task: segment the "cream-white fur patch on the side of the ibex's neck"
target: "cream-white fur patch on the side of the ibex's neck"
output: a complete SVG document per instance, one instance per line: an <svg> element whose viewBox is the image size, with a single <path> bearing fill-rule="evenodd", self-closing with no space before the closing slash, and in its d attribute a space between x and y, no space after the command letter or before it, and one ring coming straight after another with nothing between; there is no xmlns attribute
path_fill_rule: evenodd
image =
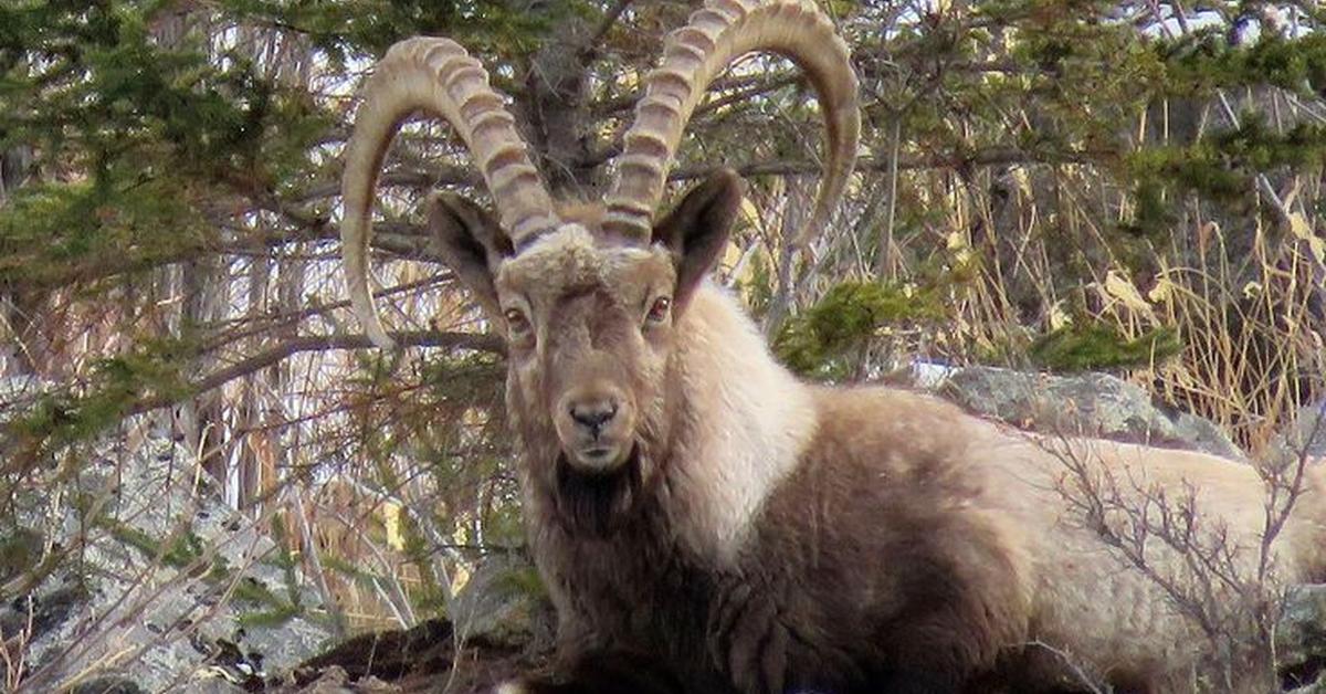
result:
<svg viewBox="0 0 1326 694"><path fill-rule="evenodd" d="M815 430L812 393L728 292L705 283L678 325L667 512L701 559L731 561Z"/></svg>

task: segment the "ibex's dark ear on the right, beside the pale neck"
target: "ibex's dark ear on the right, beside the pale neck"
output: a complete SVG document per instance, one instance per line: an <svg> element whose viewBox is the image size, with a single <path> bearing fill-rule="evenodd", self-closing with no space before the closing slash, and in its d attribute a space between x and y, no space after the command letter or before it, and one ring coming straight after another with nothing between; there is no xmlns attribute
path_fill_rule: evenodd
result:
<svg viewBox="0 0 1326 694"><path fill-rule="evenodd" d="M719 169L709 178L691 188L682 202L654 227L654 243L672 251L676 263L678 309L700 280L713 268L719 253L728 243L732 220L741 208L745 183L731 169Z"/></svg>

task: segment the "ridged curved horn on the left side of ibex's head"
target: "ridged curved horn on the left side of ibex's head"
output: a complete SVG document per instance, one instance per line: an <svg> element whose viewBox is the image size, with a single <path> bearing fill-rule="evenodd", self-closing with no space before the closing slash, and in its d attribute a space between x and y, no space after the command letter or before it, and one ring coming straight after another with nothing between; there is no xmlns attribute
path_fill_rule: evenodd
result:
<svg viewBox="0 0 1326 694"><path fill-rule="evenodd" d="M408 38L391 46L363 85L341 179L341 248L350 304L369 337L383 349L390 349L392 341L369 293L373 194L391 138L415 110L446 118L460 133L513 244L557 224L552 199L516 133L514 118L488 85L483 65L450 38Z"/></svg>

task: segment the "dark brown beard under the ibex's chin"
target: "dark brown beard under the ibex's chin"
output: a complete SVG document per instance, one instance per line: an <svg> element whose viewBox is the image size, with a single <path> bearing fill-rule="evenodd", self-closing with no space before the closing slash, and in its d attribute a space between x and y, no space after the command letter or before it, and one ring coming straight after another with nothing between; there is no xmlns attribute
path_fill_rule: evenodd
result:
<svg viewBox="0 0 1326 694"><path fill-rule="evenodd" d="M644 487L643 471L639 445L621 467L602 475L577 471L565 454L558 454L558 518L575 535L611 535L636 512Z"/></svg>

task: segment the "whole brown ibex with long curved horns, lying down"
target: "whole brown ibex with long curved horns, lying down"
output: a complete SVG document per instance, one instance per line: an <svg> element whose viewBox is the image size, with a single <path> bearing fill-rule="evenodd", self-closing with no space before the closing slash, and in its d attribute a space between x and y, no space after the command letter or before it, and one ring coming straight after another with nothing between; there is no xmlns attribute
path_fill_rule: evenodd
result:
<svg viewBox="0 0 1326 694"><path fill-rule="evenodd" d="M1071 673L1191 689L1203 641L1069 508L1065 462L1044 441L923 394L821 387L780 366L705 279L743 194L732 171L655 216L696 104L754 50L794 61L821 105L813 234L853 171L859 115L847 46L809 3L709 0L671 33L601 204L552 200L503 97L450 40L396 44L363 89L342 240L378 345L391 340L367 284L371 200L399 122L415 110L450 122L492 195L492 212L434 195L428 224L504 326L524 514L562 662L646 653L688 691L716 693L1037 691L1071 689ZM1253 467L1065 443L1085 454L1083 475L1139 482L1124 498L1193 490L1197 525L1224 528L1235 564L1257 561ZM1305 484L1274 548L1277 585L1326 567L1326 487ZM1184 576L1179 553L1146 552Z"/></svg>

